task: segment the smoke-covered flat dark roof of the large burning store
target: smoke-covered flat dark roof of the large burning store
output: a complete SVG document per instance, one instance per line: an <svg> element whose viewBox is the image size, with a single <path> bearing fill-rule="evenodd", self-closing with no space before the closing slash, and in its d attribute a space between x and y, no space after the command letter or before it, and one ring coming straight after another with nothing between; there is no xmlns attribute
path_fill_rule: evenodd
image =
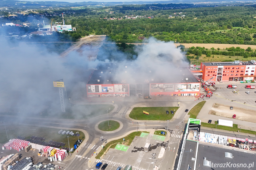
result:
<svg viewBox="0 0 256 170"><path fill-rule="evenodd" d="M175 68L172 64L164 72L144 68L131 63L99 64L87 84L199 83L187 68Z"/></svg>

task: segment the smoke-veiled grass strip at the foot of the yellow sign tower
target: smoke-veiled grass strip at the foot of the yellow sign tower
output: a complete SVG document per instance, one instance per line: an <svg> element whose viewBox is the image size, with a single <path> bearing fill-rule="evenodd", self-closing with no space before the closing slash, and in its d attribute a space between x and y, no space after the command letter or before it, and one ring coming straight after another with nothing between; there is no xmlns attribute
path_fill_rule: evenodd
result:
<svg viewBox="0 0 256 170"><path fill-rule="evenodd" d="M61 112L61 108L57 108L57 111L53 110L45 110L40 113L30 113L29 116L32 117L44 117L44 118L52 118L53 114L55 118L59 119L88 119L94 116L99 116L106 114L106 110L113 110L115 106L111 104L91 104L91 105L76 105L71 106L69 104L65 105L66 112ZM8 114L8 115L23 115L23 112L18 113L0 113L0 114ZM24 116L28 116L27 112L24 113Z"/></svg>

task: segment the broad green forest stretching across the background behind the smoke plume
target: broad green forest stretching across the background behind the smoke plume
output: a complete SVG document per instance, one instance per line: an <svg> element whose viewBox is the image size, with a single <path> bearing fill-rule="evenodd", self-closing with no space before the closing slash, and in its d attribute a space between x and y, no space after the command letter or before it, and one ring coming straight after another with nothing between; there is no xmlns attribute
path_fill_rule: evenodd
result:
<svg viewBox="0 0 256 170"><path fill-rule="evenodd" d="M82 9L67 13L65 22L74 25L81 36L108 35L109 41L117 43L139 43L144 38L155 37L176 43L256 45L253 5L150 9L152 5ZM49 17L52 18L61 21L60 16Z"/></svg>

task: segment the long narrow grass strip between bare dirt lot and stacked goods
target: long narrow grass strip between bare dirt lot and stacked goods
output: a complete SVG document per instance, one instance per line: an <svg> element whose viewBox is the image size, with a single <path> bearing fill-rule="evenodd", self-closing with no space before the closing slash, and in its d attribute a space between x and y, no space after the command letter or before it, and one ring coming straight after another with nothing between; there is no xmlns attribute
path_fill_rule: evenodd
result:
<svg viewBox="0 0 256 170"><path fill-rule="evenodd" d="M216 124L217 124L217 121L215 121L214 124L201 122L201 126L209 127L209 128L213 128L213 129L216 129ZM240 131L240 128L238 128L237 124L233 124L233 127L217 125L217 129L228 130L228 131L231 131L231 132L238 132L238 130ZM252 130L241 129L241 132L256 135L256 132L252 131Z"/></svg>

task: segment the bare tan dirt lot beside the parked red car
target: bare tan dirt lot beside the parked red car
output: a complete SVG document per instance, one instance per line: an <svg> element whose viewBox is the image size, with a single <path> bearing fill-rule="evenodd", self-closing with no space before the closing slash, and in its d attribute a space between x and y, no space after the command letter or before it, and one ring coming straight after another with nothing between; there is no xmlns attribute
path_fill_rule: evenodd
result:
<svg viewBox="0 0 256 170"><path fill-rule="evenodd" d="M233 114L236 114L236 119L256 123L254 110L239 108L235 106L233 106L233 110L230 110L230 106L214 103L212 110L209 111L209 114L228 118L232 118Z"/></svg>

